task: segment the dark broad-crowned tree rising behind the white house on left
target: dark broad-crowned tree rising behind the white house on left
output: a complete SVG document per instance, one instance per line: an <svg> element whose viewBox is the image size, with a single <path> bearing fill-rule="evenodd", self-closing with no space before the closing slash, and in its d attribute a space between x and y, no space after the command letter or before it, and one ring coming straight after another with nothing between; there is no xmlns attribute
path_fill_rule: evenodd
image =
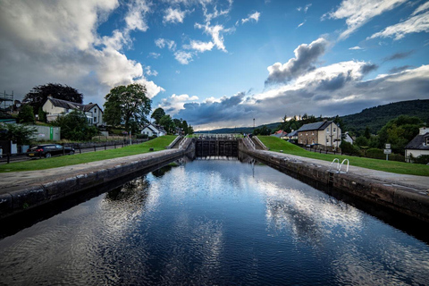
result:
<svg viewBox="0 0 429 286"><path fill-rule="evenodd" d="M33 106L33 110L38 110L49 96L78 104L83 103L83 95L77 89L59 83L48 83L34 87L24 97L23 102L28 102L29 105Z"/></svg>

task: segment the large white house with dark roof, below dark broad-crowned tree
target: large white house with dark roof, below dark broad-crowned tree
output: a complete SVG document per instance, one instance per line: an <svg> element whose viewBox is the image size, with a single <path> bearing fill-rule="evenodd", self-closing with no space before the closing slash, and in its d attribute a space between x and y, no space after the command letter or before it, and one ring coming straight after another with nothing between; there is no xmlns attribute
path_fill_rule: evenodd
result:
<svg viewBox="0 0 429 286"><path fill-rule="evenodd" d="M63 99L47 97L46 102L42 105L42 110L46 112L47 122L52 122L63 114L69 114L73 110L77 110L85 114L89 124L103 125L103 110L93 103L82 105Z"/></svg>

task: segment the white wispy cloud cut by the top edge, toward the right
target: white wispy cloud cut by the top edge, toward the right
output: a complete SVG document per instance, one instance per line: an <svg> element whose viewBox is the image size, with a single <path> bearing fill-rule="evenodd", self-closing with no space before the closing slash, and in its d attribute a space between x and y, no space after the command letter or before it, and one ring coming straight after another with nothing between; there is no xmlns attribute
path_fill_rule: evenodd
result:
<svg viewBox="0 0 429 286"><path fill-rule="evenodd" d="M391 11L405 2L407 0L343 0L335 12L324 14L322 19L326 16L331 19L345 18L348 29L340 35L341 39L345 39L375 16Z"/></svg>

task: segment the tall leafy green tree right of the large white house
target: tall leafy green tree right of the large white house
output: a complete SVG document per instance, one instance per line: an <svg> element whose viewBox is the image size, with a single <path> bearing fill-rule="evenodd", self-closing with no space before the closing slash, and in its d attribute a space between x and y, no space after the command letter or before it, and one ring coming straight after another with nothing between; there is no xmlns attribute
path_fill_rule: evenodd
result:
<svg viewBox="0 0 429 286"><path fill-rule="evenodd" d="M138 125L147 122L152 101L146 94L146 87L138 83L112 88L105 96L105 122L114 126L124 124L127 131L131 122Z"/></svg>

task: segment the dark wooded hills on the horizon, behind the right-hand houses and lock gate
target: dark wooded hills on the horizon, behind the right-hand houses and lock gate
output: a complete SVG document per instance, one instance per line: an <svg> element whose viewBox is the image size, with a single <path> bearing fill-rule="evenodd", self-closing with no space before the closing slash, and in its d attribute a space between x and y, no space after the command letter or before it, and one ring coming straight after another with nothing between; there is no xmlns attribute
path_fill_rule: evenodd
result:
<svg viewBox="0 0 429 286"><path fill-rule="evenodd" d="M416 99L400 101L389 105L378 105L362 110L358 114L349 114L341 116L345 125L343 131L353 131L357 134L363 134L366 126L371 133L376 134L391 119L400 115L417 116L426 124L429 124L429 99ZM329 118L332 120L333 118ZM265 124L267 128L275 130L281 122ZM257 126L261 128L263 125ZM211 130L211 133L250 133L253 127L223 128ZM206 132L204 132L206 133Z"/></svg>

